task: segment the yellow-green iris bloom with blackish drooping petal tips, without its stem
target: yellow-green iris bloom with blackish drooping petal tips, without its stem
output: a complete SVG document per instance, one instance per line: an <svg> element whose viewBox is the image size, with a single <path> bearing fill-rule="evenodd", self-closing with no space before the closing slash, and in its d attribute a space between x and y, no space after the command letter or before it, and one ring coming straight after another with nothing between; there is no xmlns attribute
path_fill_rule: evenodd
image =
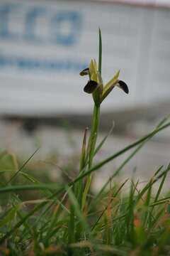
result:
<svg viewBox="0 0 170 256"><path fill-rule="evenodd" d="M89 68L85 68L80 73L81 76L89 75L89 81L84 87L84 92L92 93L96 105L108 96L115 86L120 87L125 93L129 93L128 85L123 80L119 80L120 70L113 76L113 78L103 86L101 74L98 72L98 65L96 60L91 60Z"/></svg>

